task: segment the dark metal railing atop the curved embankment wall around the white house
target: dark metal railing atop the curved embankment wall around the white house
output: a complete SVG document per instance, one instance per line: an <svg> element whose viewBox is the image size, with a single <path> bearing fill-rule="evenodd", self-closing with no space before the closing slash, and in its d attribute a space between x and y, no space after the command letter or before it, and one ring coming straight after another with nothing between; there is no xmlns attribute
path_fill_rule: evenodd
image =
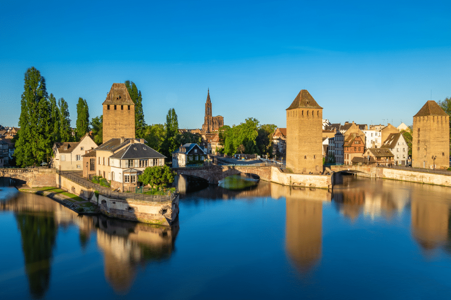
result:
<svg viewBox="0 0 451 300"><path fill-rule="evenodd" d="M134 199L134 200L142 200L142 201L155 201L155 202L168 202L172 201L172 199L177 195L177 189L175 192L171 192L170 195L148 195L148 194L140 194L133 192L121 192L114 191L108 187L102 186L100 184L91 182L83 177L80 177L75 172L66 172L60 171L61 176L68 178L71 181L76 182L87 188L92 188L97 190L99 194L107 196L109 198L119 198L119 199Z"/></svg>

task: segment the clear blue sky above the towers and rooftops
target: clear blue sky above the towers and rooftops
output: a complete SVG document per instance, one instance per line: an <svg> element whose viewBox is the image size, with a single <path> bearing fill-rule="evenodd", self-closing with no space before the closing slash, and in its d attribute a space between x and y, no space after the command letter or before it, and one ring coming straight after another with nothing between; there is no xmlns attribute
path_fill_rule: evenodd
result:
<svg viewBox="0 0 451 300"><path fill-rule="evenodd" d="M225 124L286 126L307 89L332 122L412 123L451 96L451 1L0 1L0 124L17 125L24 73L102 114L129 79L148 124L174 107L200 128L207 88Z"/></svg>

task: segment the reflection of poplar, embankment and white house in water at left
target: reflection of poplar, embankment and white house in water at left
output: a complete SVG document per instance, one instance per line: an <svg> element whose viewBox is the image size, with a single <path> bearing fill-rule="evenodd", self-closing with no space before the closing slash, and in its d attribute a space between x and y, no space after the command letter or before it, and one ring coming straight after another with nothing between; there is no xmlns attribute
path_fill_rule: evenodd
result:
<svg viewBox="0 0 451 300"><path fill-rule="evenodd" d="M28 193L0 202L0 210L15 212L30 293L36 298L44 297L49 288L59 226L77 225L82 249L89 236L96 234L97 245L104 253L105 277L117 292L130 288L137 266L169 258L179 230L178 223L169 227L79 215L47 197Z"/></svg>

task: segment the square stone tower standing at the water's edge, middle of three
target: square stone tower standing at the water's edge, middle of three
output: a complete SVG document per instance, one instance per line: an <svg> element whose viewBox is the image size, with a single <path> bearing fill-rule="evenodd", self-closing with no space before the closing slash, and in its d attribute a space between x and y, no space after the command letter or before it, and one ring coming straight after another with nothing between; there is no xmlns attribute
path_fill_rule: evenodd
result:
<svg viewBox="0 0 451 300"><path fill-rule="evenodd" d="M302 89L287 108L287 168L295 173L323 171L323 107Z"/></svg>

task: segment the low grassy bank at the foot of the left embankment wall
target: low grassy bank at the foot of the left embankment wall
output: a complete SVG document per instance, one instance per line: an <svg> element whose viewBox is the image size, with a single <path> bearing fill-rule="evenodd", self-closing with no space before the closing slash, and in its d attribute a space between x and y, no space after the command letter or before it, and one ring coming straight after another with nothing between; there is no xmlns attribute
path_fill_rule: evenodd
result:
<svg viewBox="0 0 451 300"><path fill-rule="evenodd" d="M80 214L100 213L100 208L95 203L87 201L61 188L53 186L29 187L27 185L16 186L16 188L22 192L49 197Z"/></svg>

